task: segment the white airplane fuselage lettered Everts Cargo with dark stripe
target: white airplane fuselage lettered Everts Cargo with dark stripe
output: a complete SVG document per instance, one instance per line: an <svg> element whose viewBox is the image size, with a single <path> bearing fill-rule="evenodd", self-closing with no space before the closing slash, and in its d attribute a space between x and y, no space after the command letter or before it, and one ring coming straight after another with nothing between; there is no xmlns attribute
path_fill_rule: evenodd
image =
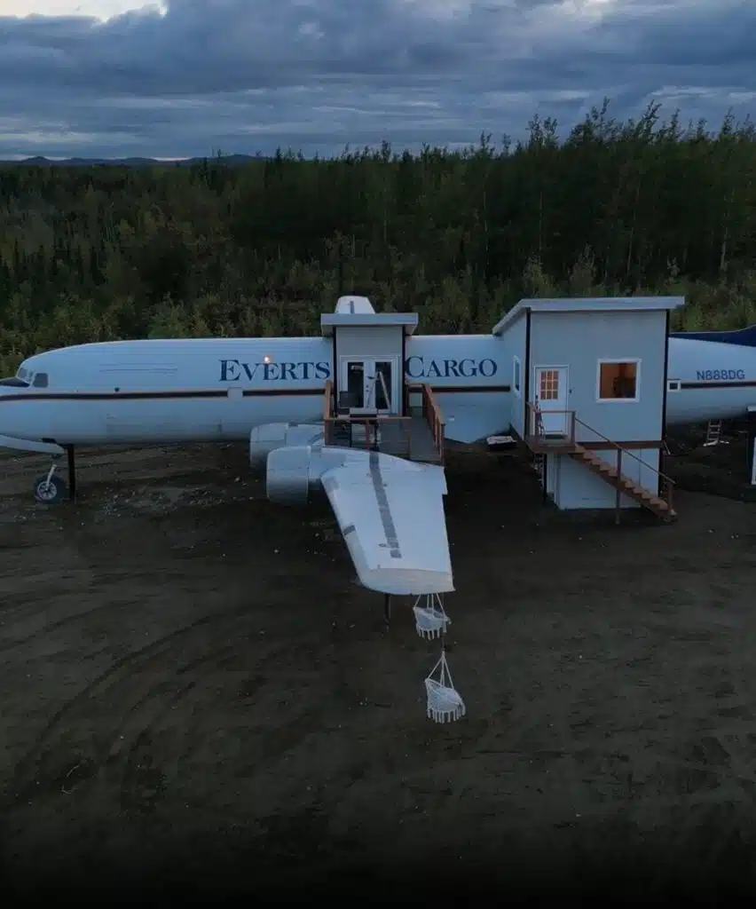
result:
<svg viewBox="0 0 756 909"><path fill-rule="evenodd" d="M667 425L736 417L756 403L756 348L681 337L669 345ZM403 371L433 387L447 438L471 442L507 429L512 365L500 338L415 335ZM322 421L323 388L334 375L333 345L322 337L61 348L29 357L0 384L0 445L248 439L256 426Z"/></svg>

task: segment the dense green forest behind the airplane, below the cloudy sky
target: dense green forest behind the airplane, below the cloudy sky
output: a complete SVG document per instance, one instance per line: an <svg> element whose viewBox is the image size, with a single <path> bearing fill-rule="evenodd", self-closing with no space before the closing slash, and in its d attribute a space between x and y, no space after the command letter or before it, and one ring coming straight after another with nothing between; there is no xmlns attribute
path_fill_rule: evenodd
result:
<svg viewBox="0 0 756 909"><path fill-rule="evenodd" d="M0 168L0 368L91 340L318 331L340 291L486 331L522 296L683 294L676 328L756 322L756 130L731 116L420 155Z"/></svg>

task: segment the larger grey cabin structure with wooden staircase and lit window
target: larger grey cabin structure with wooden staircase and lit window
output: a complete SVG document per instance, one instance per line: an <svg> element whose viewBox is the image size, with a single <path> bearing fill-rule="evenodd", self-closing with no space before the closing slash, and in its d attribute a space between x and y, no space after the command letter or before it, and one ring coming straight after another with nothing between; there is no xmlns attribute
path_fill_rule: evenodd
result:
<svg viewBox="0 0 756 909"><path fill-rule="evenodd" d="M521 300L494 326L512 370L512 433L560 509L674 519L661 473L670 313L681 297Z"/></svg>

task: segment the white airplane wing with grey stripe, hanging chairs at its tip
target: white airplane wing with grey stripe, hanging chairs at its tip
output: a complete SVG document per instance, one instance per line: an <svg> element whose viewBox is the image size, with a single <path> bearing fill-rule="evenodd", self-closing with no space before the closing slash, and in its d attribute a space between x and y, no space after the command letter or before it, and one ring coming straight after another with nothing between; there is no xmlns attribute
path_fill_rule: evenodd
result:
<svg viewBox="0 0 756 909"><path fill-rule="evenodd" d="M360 582L383 594L454 589L443 467L371 453L321 477Z"/></svg>

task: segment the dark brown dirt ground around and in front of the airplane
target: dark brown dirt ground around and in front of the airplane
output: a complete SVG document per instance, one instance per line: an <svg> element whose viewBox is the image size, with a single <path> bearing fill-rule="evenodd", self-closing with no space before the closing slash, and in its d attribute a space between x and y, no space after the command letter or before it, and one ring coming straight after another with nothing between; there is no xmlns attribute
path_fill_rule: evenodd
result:
<svg viewBox="0 0 756 909"><path fill-rule="evenodd" d="M512 455L453 454L468 714L437 725L411 603L387 630L327 505L268 504L244 446L83 452L79 503L52 508L46 466L0 461L0 814L26 893L752 883L755 505L681 491L677 524L615 526L556 514Z"/></svg>

